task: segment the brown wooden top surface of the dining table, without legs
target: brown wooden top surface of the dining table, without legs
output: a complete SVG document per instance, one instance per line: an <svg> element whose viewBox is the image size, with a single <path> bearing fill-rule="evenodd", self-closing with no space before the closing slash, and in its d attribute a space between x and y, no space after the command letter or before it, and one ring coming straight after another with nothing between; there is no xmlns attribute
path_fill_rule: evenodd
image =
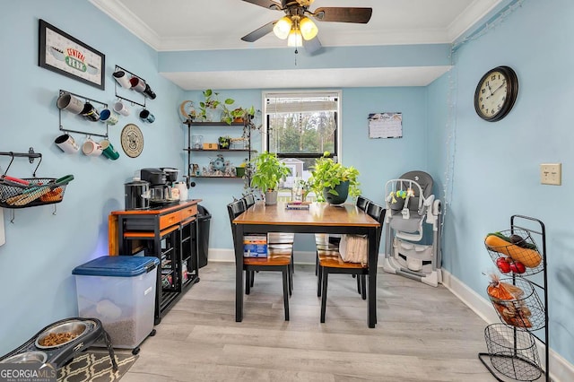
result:
<svg viewBox="0 0 574 382"><path fill-rule="evenodd" d="M284 202L265 205L258 202L233 220L236 224L318 225L378 227L378 221L354 204L331 205L313 202L309 210L287 210Z"/></svg>

